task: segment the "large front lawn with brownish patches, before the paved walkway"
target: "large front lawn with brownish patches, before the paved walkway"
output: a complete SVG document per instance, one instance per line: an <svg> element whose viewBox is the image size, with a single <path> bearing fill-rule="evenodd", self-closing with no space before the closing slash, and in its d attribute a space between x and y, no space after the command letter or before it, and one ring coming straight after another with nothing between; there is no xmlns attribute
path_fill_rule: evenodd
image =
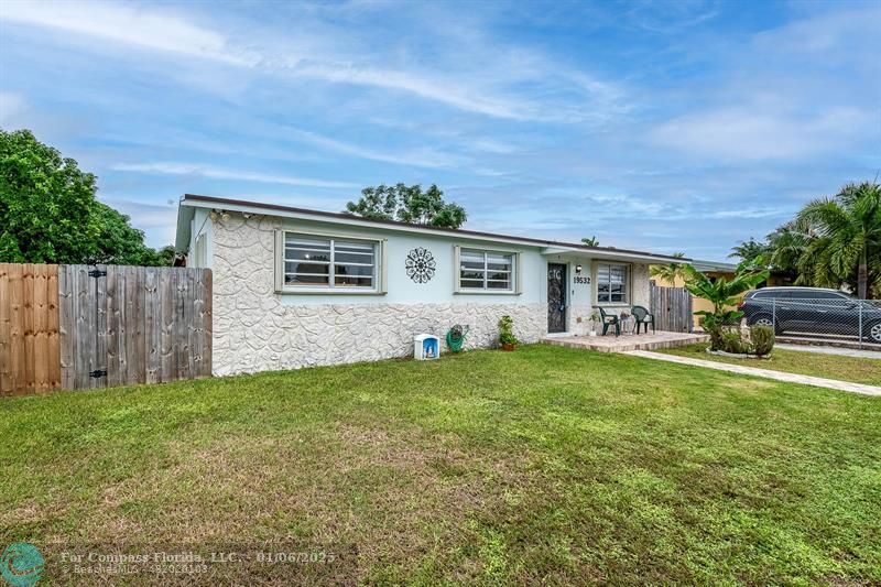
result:
<svg viewBox="0 0 881 587"><path fill-rule="evenodd" d="M0 547L338 555L287 580L881 583L881 400L561 347L0 400Z"/></svg>

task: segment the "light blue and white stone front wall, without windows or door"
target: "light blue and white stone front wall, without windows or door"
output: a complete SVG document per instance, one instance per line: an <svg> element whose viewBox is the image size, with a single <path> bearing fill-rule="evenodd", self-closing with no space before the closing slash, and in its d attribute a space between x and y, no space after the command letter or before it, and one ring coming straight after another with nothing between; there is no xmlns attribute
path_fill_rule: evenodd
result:
<svg viewBox="0 0 881 587"><path fill-rule="evenodd" d="M387 293L383 295L278 293L274 284L274 232L278 229L336 236L388 239ZM197 210L193 240L208 239L214 270L214 372L230 374L307 366L379 360L413 355L413 336L429 333L443 338L454 324L468 325L466 348L496 344L499 317L509 314L524 343L547 333L547 263L566 263L567 330L585 335L594 309L592 261L583 256L542 256L539 248L490 246L467 237L452 239L431 233L345 228L327 222L255 215L211 218ZM520 294L454 292L454 246L503 248L520 254ZM436 272L428 283L406 276L404 262L416 248L428 249ZM193 249L191 249L193 250ZM576 283L576 265L590 283ZM631 265L631 303L649 303L649 268ZM581 318L580 322L578 318Z"/></svg>

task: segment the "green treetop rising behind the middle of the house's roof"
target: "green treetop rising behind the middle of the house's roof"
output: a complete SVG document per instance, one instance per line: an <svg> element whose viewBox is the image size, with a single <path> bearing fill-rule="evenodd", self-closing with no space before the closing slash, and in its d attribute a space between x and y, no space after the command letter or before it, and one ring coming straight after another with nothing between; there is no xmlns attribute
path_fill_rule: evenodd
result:
<svg viewBox="0 0 881 587"><path fill-rule="evenodd" d="M360 199L346 204L345 211L370 219L459 228L467 219L465 208L444 202L443 196L444 193L434 184L425 192L418 184L381 184L363 188Z"/></svg>

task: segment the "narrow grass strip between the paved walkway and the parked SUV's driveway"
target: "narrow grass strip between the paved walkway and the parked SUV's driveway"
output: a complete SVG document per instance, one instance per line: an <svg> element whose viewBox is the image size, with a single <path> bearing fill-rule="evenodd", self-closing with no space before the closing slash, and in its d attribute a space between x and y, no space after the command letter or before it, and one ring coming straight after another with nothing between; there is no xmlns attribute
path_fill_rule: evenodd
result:
<svg viewBox="0 0 881 587"><path fill-rule="evenodd" d="M666 352L667 355L678 355L679 357L692 357L694 359L704 359L708 361L727 362L730 365L742 365L744 367L758 367L760 369L771 369L774 371L785 371L787 373L825 377L828 379L838 379L840 381L851 381L853 383L881 385L881 360L878 359L823 355L820 352L782 348L772 350L771 358L766 360L738 359L710 355L706 352L707 345L707 343L698 343L686 347L662 349L657 352Z"/></svg>

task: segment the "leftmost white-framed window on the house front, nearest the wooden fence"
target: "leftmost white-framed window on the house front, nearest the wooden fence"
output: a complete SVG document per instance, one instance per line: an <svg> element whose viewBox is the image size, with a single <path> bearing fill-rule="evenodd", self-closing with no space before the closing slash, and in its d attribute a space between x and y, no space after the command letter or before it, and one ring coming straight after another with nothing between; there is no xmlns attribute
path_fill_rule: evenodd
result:
<svg viewBox="0 0 881 587"><path fill-rule="evenodd" d="M282 258L286 291L377 291L379 242L284 232Z"/></svg>

